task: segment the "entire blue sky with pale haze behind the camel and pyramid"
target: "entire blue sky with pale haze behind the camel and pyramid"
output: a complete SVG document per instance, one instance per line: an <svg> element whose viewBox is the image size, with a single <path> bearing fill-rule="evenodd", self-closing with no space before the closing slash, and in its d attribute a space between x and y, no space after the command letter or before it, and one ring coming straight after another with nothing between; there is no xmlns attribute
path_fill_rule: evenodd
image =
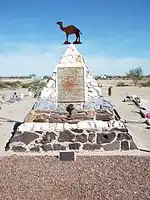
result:
<svg viewBox="0 0 150 200"><path fill-rule="evenodd" d="M0 0L0 75L51 74L67 48L60 20L81 30L92 73L150 74L149 0Z"/></svg>

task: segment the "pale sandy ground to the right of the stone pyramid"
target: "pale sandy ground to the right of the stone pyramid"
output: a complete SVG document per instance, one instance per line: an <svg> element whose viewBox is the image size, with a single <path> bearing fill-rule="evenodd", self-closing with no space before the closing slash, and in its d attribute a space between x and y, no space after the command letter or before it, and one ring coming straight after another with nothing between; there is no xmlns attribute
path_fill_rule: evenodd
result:
<svg viewBox="0 0 150 200"><path fill-rule="evenodd" d="M105 96L107 96L107 88L107 86L103 88ZM144 121L139 113L137 113L139 109L133 103L122 102L122 99L126 95L133 94L147 100L150 105L150 87L113 87L112 96L107 98L116 106L116 109L123 120ZM130 133L132 134L132 137L134 138L138 147L140 149L150 151L150 129L146 129L147 125L140 123L128 123L126 125L130 129Z"/></svg>

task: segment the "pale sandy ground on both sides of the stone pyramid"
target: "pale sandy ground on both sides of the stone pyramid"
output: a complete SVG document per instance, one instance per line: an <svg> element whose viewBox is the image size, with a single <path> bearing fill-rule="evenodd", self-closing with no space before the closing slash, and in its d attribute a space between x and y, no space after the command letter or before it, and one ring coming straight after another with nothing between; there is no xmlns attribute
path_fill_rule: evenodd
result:
<svg viewBox="0 0 150 200"><path fill-rule="evenodd" d="M102 81L103 83L105 82ZM102 84L103 84L102 83ZM121 115L122 119L128 120L142 120L140 115L137 113L138 109L135 105L131 103L123 103L122 99L125 95L136 94L141 98L150 101L150 88L139 88L139 87L115 87L116 81L107 81L102 87L104 95L107 97L107 89L109 85L113 85L112 96L108 99L116 105L116 108ZM23 90L18 90L18 94ZM4 90L1 93L6 96L11 96L13 91ZM24 90L24 93L27 94L27 91ZM24 98L21 102L13 104L3 104L2 110L0 110L0 152L4 147L4 143L9 139L12 126L15 121L23 121L24 117L31 109L35 99L31 97ZM136 144L139 148L144 150L150 150L150 129L146 129L145 124L127 124L128 128L132 132L132 137L134 138ZM5 142L4 142L5 141Z"/></svg>

